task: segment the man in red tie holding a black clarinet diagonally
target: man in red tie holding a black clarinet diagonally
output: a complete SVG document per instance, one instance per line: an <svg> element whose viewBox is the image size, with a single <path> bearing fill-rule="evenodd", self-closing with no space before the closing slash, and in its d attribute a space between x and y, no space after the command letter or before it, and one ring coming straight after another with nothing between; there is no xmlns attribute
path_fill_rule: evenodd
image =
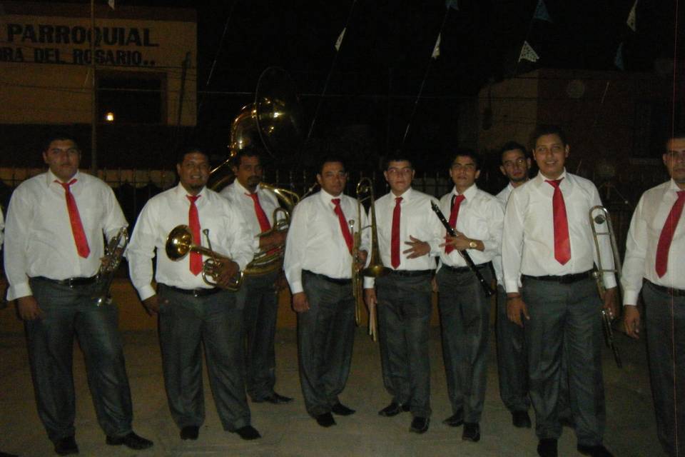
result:
<svg viewBox="0 0 685 457"><path fill-rule="evenodd" d="M462 439L480 440L485 399L490 298L460 251L466 251L488 284L492 259L502 242L504 206L478 189L480 157L461 150L452 156L450 177L455 187L440 199L440 209L457 236L447 236L440 251L437 287L442 327L442 351L452 416L448 426L464 425Z"/></svg>

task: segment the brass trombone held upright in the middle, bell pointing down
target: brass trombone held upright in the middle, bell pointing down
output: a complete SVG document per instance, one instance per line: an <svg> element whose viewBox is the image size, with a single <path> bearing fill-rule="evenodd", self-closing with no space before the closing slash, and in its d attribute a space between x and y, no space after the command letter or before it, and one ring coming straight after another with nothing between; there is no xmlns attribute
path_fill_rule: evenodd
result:
<svg viewBox="0 0 685 457"><path fill-rule="evenodd" d="M352 247L352 292L355 296L355 322L357 326L361 320L361 308L364 302L362 276L369 276L371 278L378 278L384 276L390 271L390 268L383 266L380 260L380 251L378 250L378 230L376 225L376 208L375 196L373 194L373 181L368 178L362 178L357 183L357 221L361 224L362 221L362 207L366 200L370 201L369 214L371 224L367 227L361 227L354 230L354 221L350 221L350 231L352 231L352 239L354 241ZM371 252L368 266L360 268L359 266L359 246L362 242L362 230L371 229ZM376 321L375 305L369 307L369 335L373 341L376 341L378 326Z"/></svg>

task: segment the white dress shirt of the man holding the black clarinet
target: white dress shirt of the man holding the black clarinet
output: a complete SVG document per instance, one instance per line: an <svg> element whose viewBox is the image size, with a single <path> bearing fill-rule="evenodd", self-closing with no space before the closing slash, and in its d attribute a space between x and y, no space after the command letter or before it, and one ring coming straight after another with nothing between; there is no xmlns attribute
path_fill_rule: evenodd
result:
<svg viewBox="0 0 685 457"><path fill-rule="evenodd" d="M452 197L458 195L455 187L450 194L445 194L440 199L440 210L448 221L452 211ZM456 230L464 233L467 238L483 242L483 251L468 249L473 263L480 265L492 261L494 257L499 256L501 248L504 206L494 196L478 189L475 184L466 189L462 195L465 196L465 200L459 207ZM443 263L454 267L467 266L466 261L456 249L449 254L445 253L445 248L440 250L440 266Z"/></svg>

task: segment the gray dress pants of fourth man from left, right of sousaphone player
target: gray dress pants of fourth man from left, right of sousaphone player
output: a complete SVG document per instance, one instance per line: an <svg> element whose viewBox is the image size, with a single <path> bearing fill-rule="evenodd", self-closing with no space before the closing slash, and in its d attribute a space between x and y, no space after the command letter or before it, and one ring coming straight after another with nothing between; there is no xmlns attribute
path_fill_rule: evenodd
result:
<svg viewBox="0 0 685 457"><path fill-rule="evenodd" d="M330 413L350 375L355 339L352 282L335 283L303 271L308 311L298 313L300 385L307 412Z"/></svg>

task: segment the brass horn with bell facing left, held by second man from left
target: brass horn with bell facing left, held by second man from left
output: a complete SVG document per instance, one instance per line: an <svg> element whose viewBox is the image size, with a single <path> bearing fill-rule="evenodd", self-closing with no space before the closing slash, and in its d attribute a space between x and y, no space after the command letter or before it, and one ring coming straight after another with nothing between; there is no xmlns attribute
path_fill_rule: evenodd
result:
<svg viewBox="0 0 685 457"><path fill-rule="evenodd" d="M205 236L207 236L207 241L209 242L208 229L203 230ZM169 235L166 237L166 245L164 246L166 255L173 261L179 261L184 258L189 252L195 252L202 254L203 256L208 256L203 263L202 268L202 278L205 283L210 286L216 286L218 276L220 273L220 267L222 263L231 261L230 258L222 256L218 253L212 251L212 246L205 248L194 243L193 232L188 229L186 225L180 225L173 228ZM229 291L238 291L240 284L243 283L243 271L240 271L236 278L233 279L228 286L224 287Z"/></svg>

